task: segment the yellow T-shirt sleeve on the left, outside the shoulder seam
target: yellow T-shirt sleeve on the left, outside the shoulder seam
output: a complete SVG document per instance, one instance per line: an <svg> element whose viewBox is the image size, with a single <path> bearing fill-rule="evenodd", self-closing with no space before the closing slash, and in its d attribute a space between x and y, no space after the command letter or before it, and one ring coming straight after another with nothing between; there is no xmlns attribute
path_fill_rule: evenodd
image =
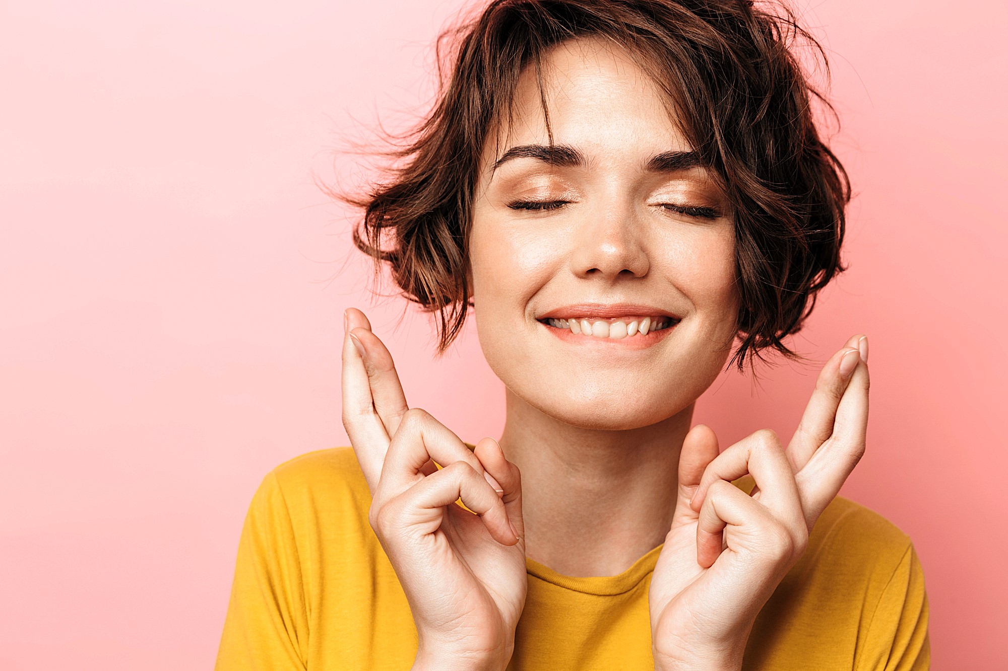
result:
<svg viewBox="0 0 1008 671"><path fill-rule="evenodd" d="M252 499L216 671L303 671L307 614L293 526L275 473Z"/></svg>

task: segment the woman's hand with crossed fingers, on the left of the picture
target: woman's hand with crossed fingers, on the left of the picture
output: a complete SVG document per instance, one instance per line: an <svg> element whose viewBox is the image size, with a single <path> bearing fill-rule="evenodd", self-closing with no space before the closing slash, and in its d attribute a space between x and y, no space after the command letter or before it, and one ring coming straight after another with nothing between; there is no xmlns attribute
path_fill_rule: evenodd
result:
<svg viewBox="0 0 1008 671"><path fill-rule="evenodd" d="M371 490L371 527L412 611L413 668L504 669L527 585L518 466L493 438L470 450L408 409L367 317L349 308L345 319L343 425Z"/></svg>

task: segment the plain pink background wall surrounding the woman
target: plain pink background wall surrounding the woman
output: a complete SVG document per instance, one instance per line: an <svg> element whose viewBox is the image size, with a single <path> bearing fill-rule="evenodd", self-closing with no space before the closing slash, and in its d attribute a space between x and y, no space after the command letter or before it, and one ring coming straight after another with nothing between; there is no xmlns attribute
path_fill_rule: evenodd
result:
<svg viewBox="0 0 1008 671"><path fill-rule="evenodd" d="M369 307L312 173L430 93L458 2L0 5L0 668L199 669L217 650L260 479L349 444L342 310L407 397L477 440L502 387L470 331L432 361ZM851 170L847 259L795 345L872 344L869 449L843 494L913 538L935 668L1005 668L1008 319L1003 2L828 0ZM789 436L815 367L723 376L698 421Z"/></svg>

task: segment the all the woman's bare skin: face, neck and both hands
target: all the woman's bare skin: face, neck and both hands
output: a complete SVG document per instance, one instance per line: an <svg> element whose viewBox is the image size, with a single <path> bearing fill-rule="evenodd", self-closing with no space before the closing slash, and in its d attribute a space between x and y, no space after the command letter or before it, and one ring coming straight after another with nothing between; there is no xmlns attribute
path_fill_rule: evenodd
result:
<svg viewBox="0 0 1008 671"><path fill-rule="evenodd" d="M347 310L344 425L417 627L414 668L505 668L526 556L615 575L663 543L648 593L655 669L737 671L864 453L867 338L827 362L786 448L761 429L720 450L690 424L736 333L731 212L628 54L563 43L544 84L553 145L525 77L475 194L471 279L507 388L500 440L470 451L410 408L388 350ZM746 474L751 495L731 485Z"/></svg>

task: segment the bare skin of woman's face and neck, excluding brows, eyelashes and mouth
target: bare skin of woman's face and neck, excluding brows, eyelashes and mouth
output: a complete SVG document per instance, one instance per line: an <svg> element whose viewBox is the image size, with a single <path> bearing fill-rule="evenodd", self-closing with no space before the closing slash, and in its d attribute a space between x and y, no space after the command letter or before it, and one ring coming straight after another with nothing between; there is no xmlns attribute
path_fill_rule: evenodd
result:
<svg viewBox="0 0 1008 671"><path fill-rule="evenodd" d="M487 143L471 243L480 343L507 386L501 446L524 476L528 556L566 575L615 575L662 542L694 404L735 336L734 230L703 168L647 161L689 144L629 56L592 40L561 44L545 75L557 145L584 164L514 158L547 144L529 74L515 122ZM516 211L516 198L570 200ZM703 206L702 219L663 204ZM682 317L646 350L559 342L536 321L563 305L642 303ZM626 339L627 341L631 339ZM610 352L612 351L612 352Z"/></svg>

